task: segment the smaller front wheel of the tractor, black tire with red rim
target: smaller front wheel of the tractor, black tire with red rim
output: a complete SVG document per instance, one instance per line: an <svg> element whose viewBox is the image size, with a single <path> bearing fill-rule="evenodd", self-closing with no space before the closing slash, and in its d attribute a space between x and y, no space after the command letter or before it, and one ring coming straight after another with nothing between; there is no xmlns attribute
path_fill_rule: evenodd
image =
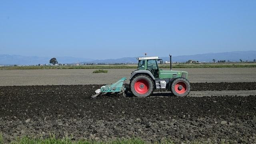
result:
<svg viewBox="0 0 256 144"><path fill-rule="evenodd" d="M175 96L187 96L190 92L190 83L186 78L176 78L172 81L170 90Z"/></svg>

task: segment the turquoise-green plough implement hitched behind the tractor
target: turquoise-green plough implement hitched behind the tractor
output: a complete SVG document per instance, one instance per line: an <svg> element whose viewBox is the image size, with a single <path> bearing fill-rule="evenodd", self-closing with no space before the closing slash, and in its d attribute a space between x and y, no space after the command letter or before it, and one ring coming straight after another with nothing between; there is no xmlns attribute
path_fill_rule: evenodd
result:
<svg viewBox="0 0 256 144"><path fill-rule="evenodd" d="M114 84L107 84L106 86L102 86L100 89L95 90L96 94L91 96L92 98L96 98L98 95L102 94L123 94L124 97L126 97L125 90L126 88L124 87L124 81L126 80L126 77L121 78L121 80L118 80Z"/></svg>

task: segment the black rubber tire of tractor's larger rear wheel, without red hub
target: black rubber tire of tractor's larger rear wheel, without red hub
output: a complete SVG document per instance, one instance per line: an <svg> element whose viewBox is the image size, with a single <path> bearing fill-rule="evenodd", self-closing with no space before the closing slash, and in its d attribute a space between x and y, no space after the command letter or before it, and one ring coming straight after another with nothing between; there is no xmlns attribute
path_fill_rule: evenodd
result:
<svg viewBox="0 0 256 144"><path fill-rule="evenodd" d="M136 91L135 89L135 83L138 81L138 80L146 80L148 82L148 91L145 93L145 94L140 94ZM144 87L143 87L144 88ZM154 83L153 83L153 80L147 76L147 75L144 75L144 74L139 74L137 76L134 76L134 78L132 78L132 80L130 81L130 90L132 92L132 94L134 94L134 96L137 96L137 97L146 97L146 96L150 96L153 91L154 91Z"/></svg>

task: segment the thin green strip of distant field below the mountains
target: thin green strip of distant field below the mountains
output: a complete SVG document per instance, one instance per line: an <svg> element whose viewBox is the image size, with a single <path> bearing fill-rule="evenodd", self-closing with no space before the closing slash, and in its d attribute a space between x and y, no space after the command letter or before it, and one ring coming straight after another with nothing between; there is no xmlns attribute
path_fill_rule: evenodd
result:
<svg viewBox="0 0 256 144"><path fill-rule="evenodd" d="M160 68L170 68L169 64L159 65ZM137 65L85 65L85 66L2 66L4 69L97 69L97 68L137 68ZM172 68L256 68L256 63L198 63L172 64Z"/></svg>

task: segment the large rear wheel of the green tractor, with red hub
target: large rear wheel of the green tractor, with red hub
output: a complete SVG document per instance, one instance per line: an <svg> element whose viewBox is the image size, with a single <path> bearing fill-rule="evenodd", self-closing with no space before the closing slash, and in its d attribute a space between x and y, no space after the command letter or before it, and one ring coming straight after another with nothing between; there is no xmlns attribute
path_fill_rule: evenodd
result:
<svg viewBox="0 0 256 144"><path fill-rule="evenodd" d="M147 75L135 76L130 82L132 94L137 97L150 96L154 91L152 79Z"/></svg>

